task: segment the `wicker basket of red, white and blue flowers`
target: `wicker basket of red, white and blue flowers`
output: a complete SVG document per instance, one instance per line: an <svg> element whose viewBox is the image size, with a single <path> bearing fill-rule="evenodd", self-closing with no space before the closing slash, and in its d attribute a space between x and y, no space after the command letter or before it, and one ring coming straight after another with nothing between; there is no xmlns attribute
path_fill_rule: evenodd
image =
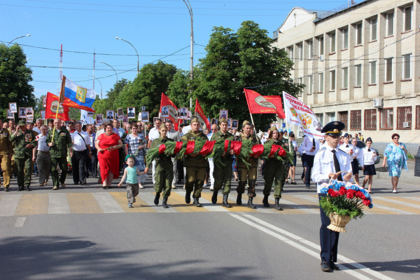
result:
<svg viewBox="0 0 420 280"><path fill-rule="evenodd" d="M340 171L336 174L339 173L349 172ZM322 187L321 193L327 197L322 198L319 205L330 217L331 224L327 228L332 231L345 233L345 225L351 219L364 216L363 205L373 207L369 193L358 185L331 179L328 184L322 184Z"/></svg>

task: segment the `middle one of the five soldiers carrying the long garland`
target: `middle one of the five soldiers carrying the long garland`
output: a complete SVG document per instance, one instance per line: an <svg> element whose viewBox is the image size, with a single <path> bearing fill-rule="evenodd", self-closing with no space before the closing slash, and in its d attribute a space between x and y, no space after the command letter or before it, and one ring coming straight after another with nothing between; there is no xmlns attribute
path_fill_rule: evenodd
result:
<svg viewBox="0 0 420 280"><path fill-rule="evenodd" d="M227 132L228 122L226 119L222 118L220 120L220 130L217 133L214 133L211 136L211 141L216 140L235 140L235 136L232 133ZM217 202L217 192L221 189L224 184L223 188L223 202L222 206L226 208L230 208L230 204L228 203L227 199L230 193L231 181L232 181L232 157L233 150L231 149L228 152L223 152L221 157L221 161L225 164L225 166L218 167L217 164L214 165L213 174L214 177L214 186L213 186L213 196L211 197L211 202L216 204Z"/></svg>

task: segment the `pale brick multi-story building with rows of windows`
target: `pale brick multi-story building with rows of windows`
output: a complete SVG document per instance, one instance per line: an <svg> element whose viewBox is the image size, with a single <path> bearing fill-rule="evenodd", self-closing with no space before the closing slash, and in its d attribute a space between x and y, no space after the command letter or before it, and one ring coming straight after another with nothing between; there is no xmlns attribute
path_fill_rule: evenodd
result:
<svg viewBox="0 0 420 280"><path fill-rule="evenodd" d="M382 154L398 133L420 143L420 1L365 0L329 12L295 7L273 46L294 62L298 97L321 124L339 120Z"/></svg>

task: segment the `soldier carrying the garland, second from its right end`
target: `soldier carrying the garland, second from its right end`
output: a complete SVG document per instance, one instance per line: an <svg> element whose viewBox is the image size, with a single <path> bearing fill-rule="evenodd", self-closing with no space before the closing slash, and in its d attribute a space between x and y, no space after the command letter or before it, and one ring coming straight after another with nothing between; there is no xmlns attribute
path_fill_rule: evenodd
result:
<svg viewBox="0 0 420 280"><path fill-rule="evenodd" d="M251 133L252 123L250 123L248 120L244 120L242 129L244 133L241 133L240 141L250 140L254 145L259 144L257 138ZM237 163L239 183L238 183L238 187L236 188L236 192L238 193L238 196L236 198L236 204L238 205L242 204L242 194L245 193L245 186L247 185L247 180L248 180L247 207L255 209L256 207L252 203L252 199L256 196L255 183L256 183L256 175L257 175L256 172L258 168L258 156L255 155L254 157L250 157L245 160L251 164L249 169L247 168L247 165L244 162L238 161Z"/></svg>

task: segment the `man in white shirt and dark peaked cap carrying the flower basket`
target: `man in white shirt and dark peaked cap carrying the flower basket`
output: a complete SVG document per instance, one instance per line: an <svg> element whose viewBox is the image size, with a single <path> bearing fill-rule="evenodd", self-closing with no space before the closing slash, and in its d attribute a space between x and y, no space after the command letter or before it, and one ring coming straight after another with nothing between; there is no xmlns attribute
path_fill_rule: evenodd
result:
<svg viewBox="0 0 420 280"><path fill-rule="evenodd" d="M343 181L351 180L351 164L349 156L339 149L341 130L344 128L341 121L332 121L327 123L321 130L326 134L327 146L319 150L314 157L312 180L316 183L319 200L326 196L321 193L322 184L328 183L330 179ZM305 137L306 138L306 137ZM337 173L338 171L347 171L345 175ZM325 214L320 206L321 229L319 232L321 243L321 270L330 271L338 269L337 248L339 233L328 229L331 224L330 218Z"/></svg>

